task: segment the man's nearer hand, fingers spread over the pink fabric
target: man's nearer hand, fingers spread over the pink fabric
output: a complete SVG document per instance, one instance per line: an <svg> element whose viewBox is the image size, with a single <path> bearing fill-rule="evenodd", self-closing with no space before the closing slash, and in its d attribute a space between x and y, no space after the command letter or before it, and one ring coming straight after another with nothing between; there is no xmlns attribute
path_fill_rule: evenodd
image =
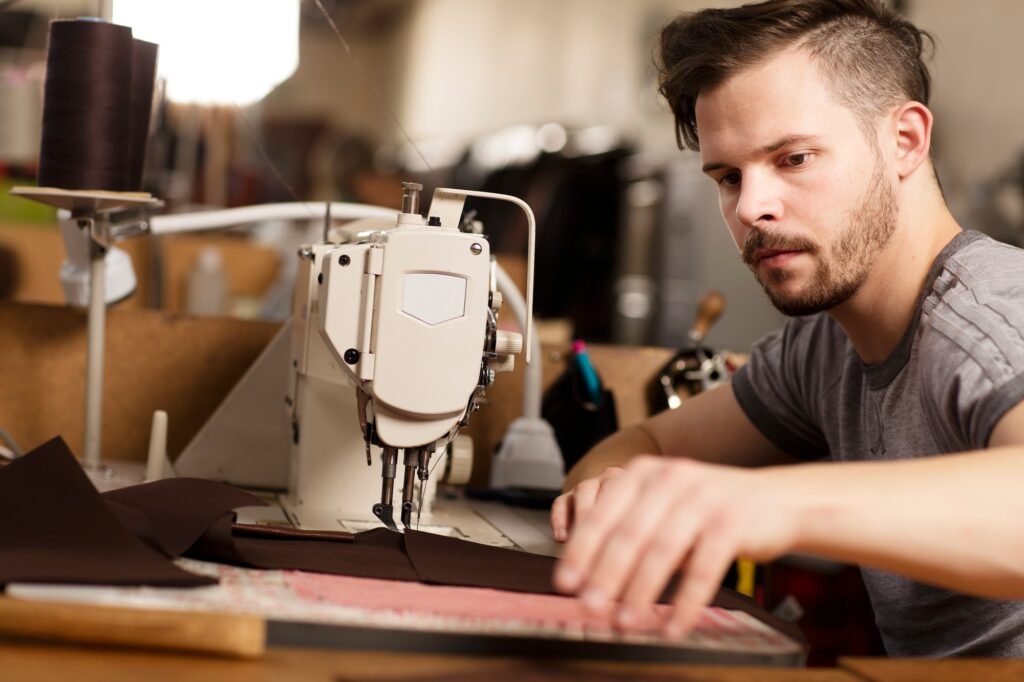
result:
<svg viewBox="0 0 1024 682"><path fill-rule="evenodd" d="M552 509L556 538L572 521L555 587L596 612L621 602L629 628L682 568L666 634L683 636L736 556L767 560L797 542L800 491L771 474L639 457L580 483Z"/></svg>

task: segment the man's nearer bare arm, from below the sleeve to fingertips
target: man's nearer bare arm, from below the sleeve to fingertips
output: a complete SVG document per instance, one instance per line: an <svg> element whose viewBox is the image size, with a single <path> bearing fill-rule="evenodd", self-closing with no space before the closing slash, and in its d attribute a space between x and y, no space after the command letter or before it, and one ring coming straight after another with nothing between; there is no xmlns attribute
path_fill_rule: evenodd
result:
<svg viewBox="0 0 1024 682"><path fill-rule="evenodd" d="M898 462L743 470L638 458L581 519L556 587L629 627L684 568L670 634L689 630L737 556L792 551L949 589L1024 598L1024 403L989 450Z"/></svg>

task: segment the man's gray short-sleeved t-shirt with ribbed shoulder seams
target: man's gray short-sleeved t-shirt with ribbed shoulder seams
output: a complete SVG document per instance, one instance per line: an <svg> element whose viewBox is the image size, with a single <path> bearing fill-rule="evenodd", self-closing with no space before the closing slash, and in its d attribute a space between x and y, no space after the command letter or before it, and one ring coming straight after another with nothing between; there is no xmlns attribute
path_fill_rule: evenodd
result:
<svg viewBox="0 0 1024 682"><path fill-rule="evenodd" d="M983 449L1024 400L1024 250L961 232L936 258L888 358L864 365L825 313L794 317L755 345L733 388L769 439L808 460ZM1024 601L862 572L890 655L1024 656Z"/></svg>

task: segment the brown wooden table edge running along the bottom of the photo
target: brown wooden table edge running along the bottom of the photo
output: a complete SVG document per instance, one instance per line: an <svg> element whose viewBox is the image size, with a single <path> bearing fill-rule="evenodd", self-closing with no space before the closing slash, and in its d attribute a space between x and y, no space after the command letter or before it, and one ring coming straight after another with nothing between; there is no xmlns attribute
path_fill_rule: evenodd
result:
<svg viewBox="0 0 1024 682"><path fill-rule="evenodd" d="M450 680L684 680L686 682L1009 682L1024 679L1024 660L844 658L835 669L731 668L598 662L528 662L469 655L270 648L262 658L232 660L127 649L49 646L0 640L5 682L187 680L188 682L377 682Z"/></svg>

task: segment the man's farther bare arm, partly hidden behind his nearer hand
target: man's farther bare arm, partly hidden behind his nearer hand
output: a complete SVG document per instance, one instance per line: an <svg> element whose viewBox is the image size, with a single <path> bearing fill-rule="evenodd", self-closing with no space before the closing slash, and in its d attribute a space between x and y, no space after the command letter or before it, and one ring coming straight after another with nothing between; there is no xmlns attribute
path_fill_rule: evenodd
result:
<svg viewBox="0 0 1024 682"><path fill-rule="evenodd" d="M565 541L575 521L591 510L604 482L638 455L744 467L796 462L751 423L732 386L722 385L695 395L677 410L613 433L587 453L565 477L565 494L551 508L555 540Z"/></svg>

